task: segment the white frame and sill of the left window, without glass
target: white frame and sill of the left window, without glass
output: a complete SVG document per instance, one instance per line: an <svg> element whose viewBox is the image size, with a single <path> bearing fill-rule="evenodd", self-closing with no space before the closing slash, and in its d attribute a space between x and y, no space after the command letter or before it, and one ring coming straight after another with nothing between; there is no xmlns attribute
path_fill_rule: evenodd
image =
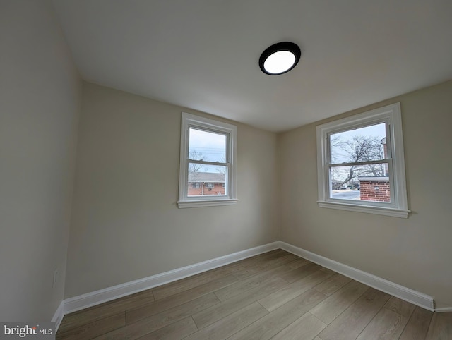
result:
<svg viewBox="0 0 452 340"><path fill-rule="evenodd" d="M206 195L206 196L189 196L189 129L197 128L213 133L221 133L226 138L226 162L202 162L203 164L215 165L220 164L227 166L227 178L225 178L227 186L227 195ZM194 114L182 112L181 123L181 149L180 149L180 165L179 165L179 200L177 206L179 208L189 207L210 207L216 205L234 205L237 203L237 126L215 121Z"/></svg>

